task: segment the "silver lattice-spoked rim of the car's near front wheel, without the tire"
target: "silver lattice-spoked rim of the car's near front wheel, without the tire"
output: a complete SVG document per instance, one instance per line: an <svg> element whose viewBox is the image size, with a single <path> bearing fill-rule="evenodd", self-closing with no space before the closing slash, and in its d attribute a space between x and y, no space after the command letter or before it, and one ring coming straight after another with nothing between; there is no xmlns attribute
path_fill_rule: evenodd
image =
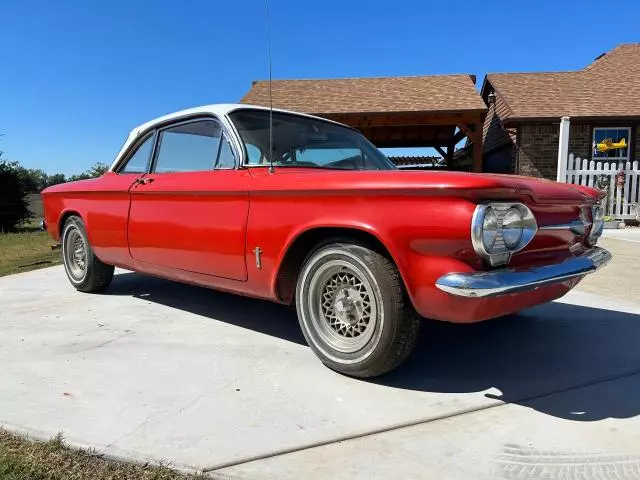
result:
<svg viewBox="0 0 640 480"><path fill-rule="evenodd" d="M310 320L331 348L353 353L367 346L374 334L378 306L364 272L350 262L330 260L309 282Z"/></svg>

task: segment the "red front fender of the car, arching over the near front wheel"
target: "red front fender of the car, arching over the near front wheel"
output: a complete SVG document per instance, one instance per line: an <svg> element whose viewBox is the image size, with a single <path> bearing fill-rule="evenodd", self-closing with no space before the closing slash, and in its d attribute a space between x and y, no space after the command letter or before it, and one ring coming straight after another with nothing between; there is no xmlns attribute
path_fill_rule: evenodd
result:
<svg viewBox="0 0 640 480"><path fill-rule="evenodd" d="M268 295L278 298L278 272L287 252L306 232L314 229L357 230L375 238L389 253L407 293L421 314L429 313L425 292L435 288L440 259L451 258L470 268L480 267L471 245L471 217L475 203L456 197L392 193L345 197L314 195L292 199L252 198L247 234L247 265L253 250L264 251L262 272L268 275ZM281 212L273 215L273 211ZM297 273L297 272L296 272ZM266 286L266 285L265 285ZM425 290L426 289L426 290Z"/></svg>

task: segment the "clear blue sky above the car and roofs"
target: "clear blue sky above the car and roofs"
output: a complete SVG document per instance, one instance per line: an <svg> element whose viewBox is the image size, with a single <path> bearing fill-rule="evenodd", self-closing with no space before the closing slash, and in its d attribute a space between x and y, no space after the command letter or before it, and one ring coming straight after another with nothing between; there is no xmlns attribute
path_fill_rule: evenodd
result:
<svg viewBox="0 0 640 480"><path fill-rule="evenodd" d="M640 41L640 2L270 0L274 78L578 69ZM263 0L3 0L0 150L49 173L267 76Z"/></svg>

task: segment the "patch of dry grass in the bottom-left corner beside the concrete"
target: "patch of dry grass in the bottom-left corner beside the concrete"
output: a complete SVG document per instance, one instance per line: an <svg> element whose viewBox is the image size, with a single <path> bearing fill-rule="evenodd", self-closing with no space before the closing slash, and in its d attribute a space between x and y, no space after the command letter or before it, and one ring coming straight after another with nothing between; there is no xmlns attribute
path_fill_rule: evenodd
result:
<svg viewBox="0 0 640 480"><path fill-rule="evenodd" d="M61 434L35 442L0 429L2 480L196 480L165 466L133 465L107 460L91 451L65 445Z"/></svg>

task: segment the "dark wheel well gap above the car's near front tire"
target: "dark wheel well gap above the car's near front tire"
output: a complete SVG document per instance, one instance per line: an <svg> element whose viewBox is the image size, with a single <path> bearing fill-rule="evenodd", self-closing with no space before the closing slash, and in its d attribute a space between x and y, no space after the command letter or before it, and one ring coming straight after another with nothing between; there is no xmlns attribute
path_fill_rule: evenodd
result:
<svg viewBox="0 0 640 480"><path fill-rule="evenodd" d="M346 227L320 227L307 230L289 246L278 269L276 295L281 302L290 304L293 301L298 272L307 256L318 248L335 242L361 245L384 255L393 262L393 257L384 244L375 235L364 230Z"/></svg>

